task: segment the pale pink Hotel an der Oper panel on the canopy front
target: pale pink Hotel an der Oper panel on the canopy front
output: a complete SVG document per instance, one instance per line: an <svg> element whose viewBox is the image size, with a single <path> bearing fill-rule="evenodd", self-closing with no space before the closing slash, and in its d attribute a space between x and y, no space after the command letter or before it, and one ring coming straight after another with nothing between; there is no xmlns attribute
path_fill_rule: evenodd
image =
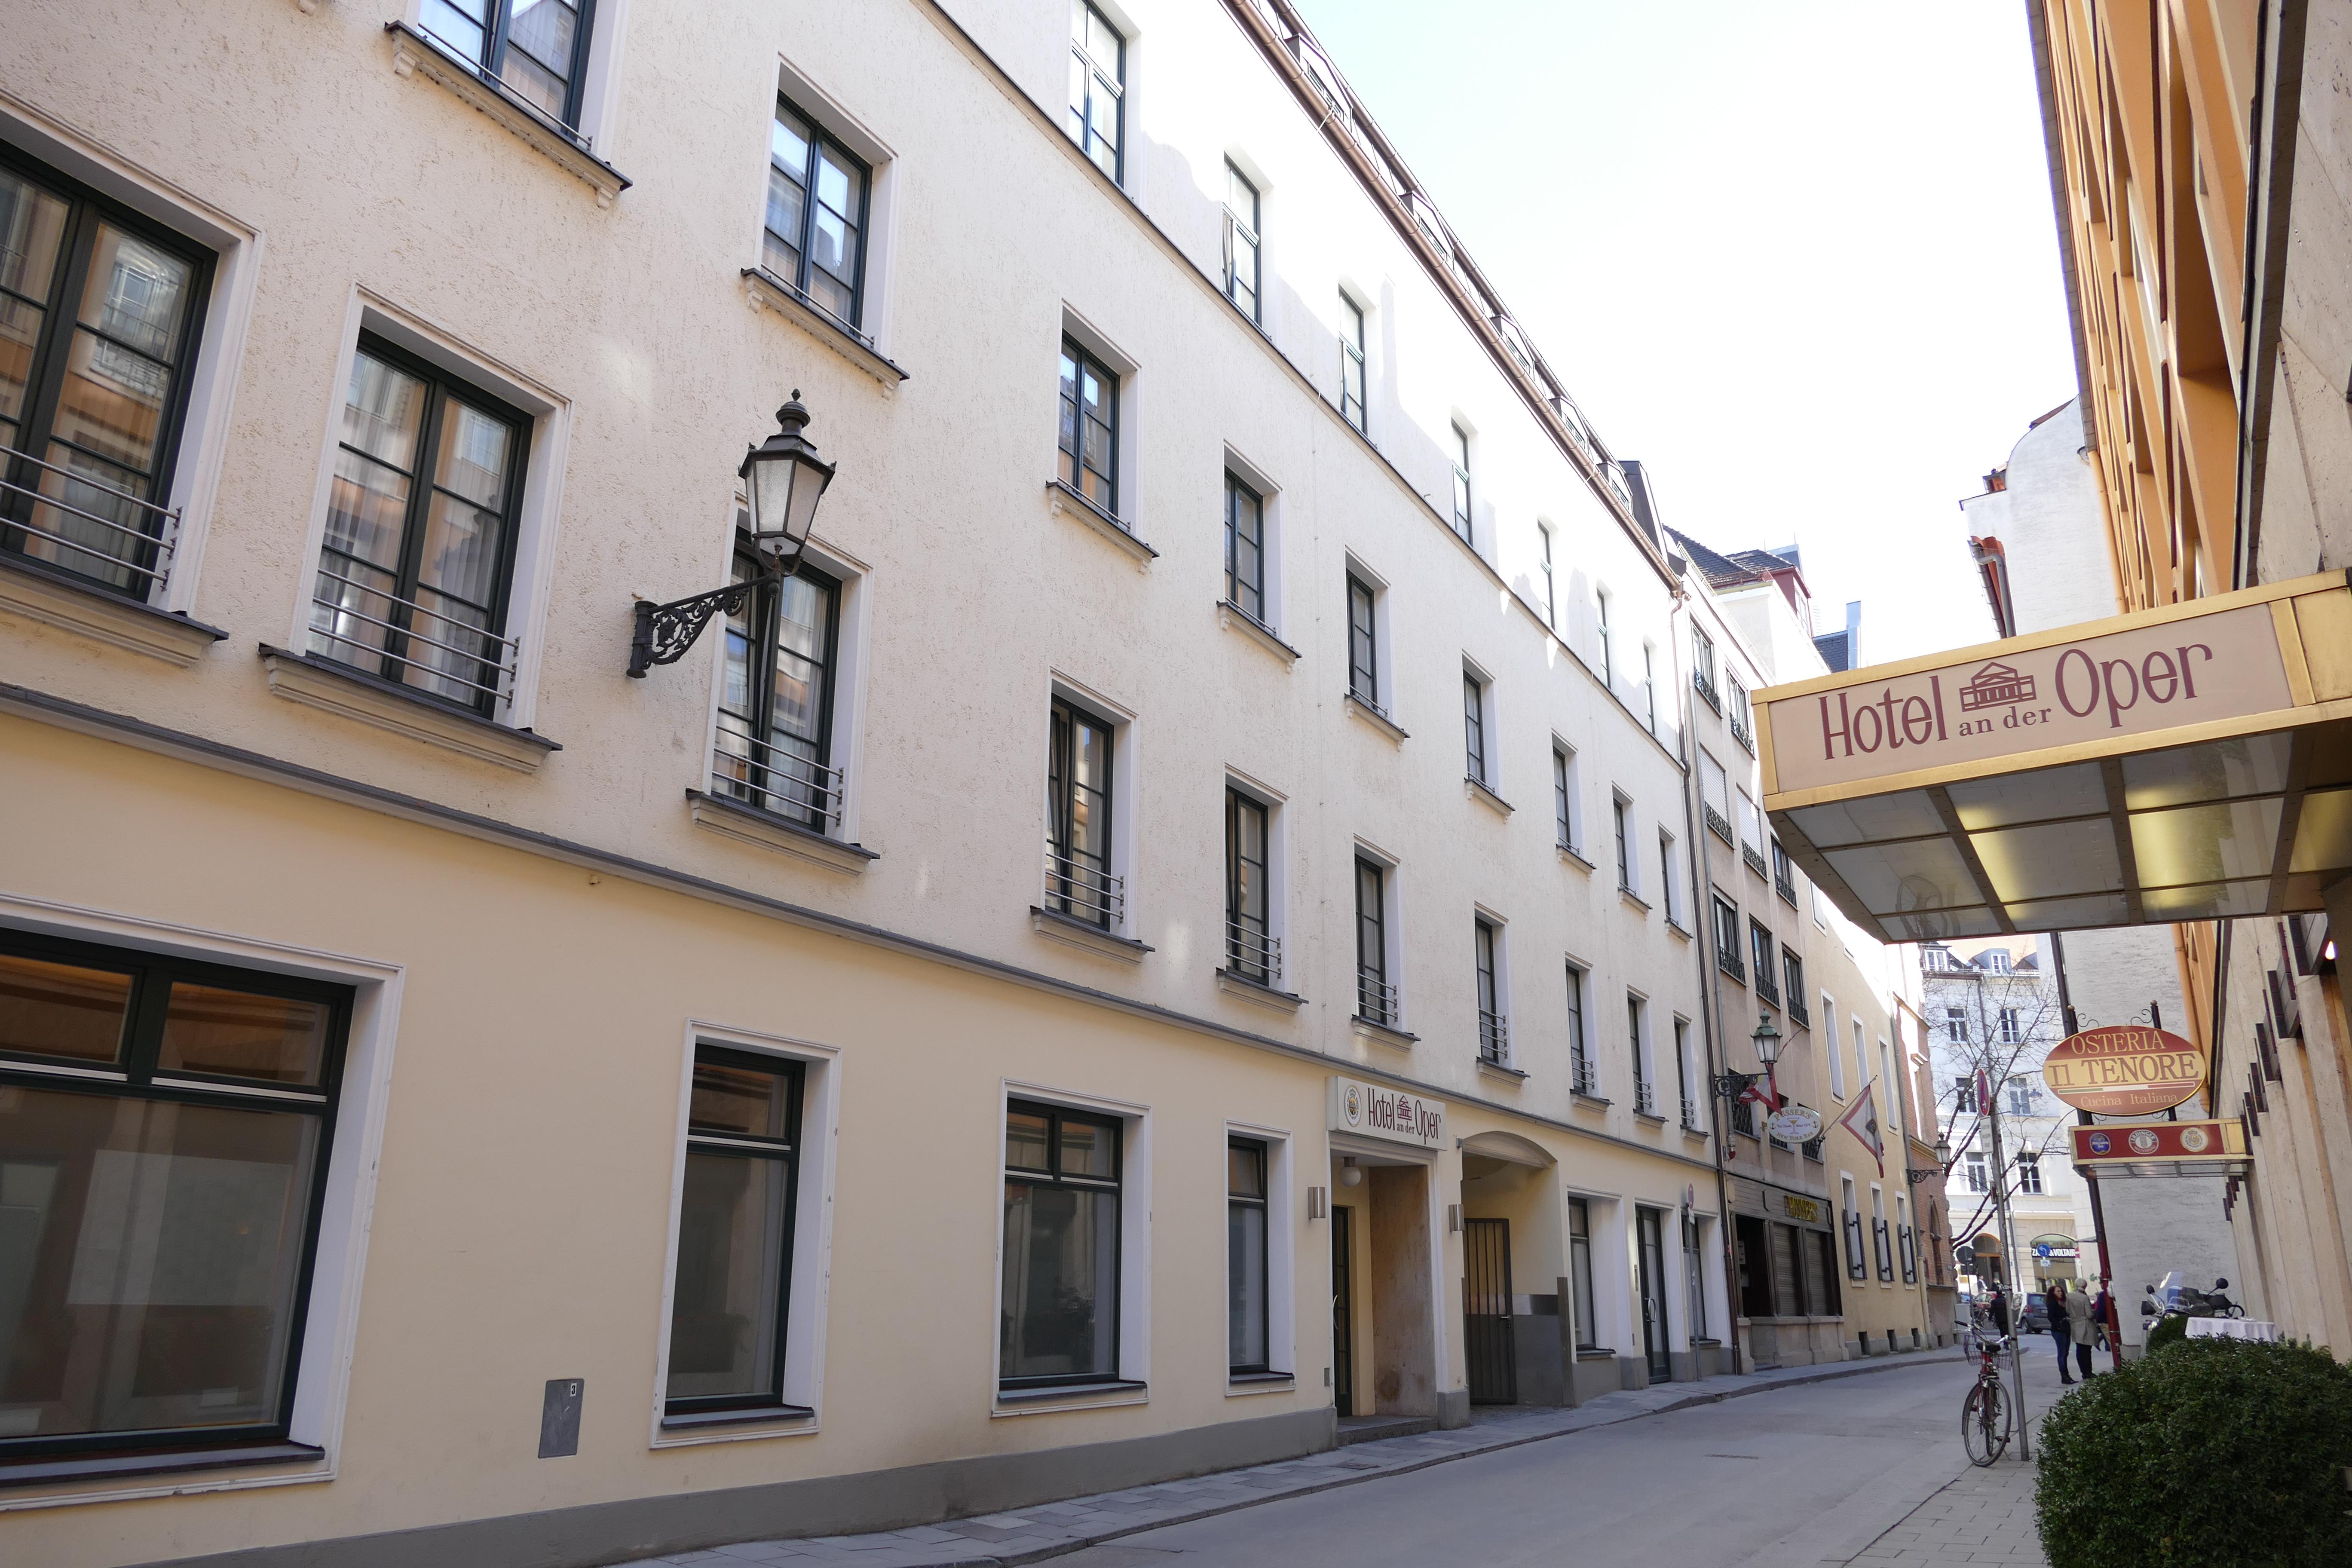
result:
<svg viewBox="0 0 2352 1568"><path fill-rule="evenodd" d="M1771 703L1773 792L2293 708L2270 604Z"/></svg>

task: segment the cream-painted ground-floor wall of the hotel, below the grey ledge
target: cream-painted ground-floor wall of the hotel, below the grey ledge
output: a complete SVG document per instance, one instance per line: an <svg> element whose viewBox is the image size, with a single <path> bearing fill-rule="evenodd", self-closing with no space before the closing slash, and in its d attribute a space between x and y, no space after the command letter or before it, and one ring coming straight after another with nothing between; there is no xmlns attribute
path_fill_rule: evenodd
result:
<svg viewBox="0 0 2352 1568"><path fill-rule="evenodd" d="M1322 1180L1322 1060L14 717L0 717L0 797L12 919L99 910L176 929L191 950L219 933L400 973L348 1415L327 1434L334 1479L64 1507L0 1493L0 1561L113 1568L1329 1406L1331 1234L1296 1190L1275 1201L1298 1213L1298 1385L1230 1399L1223 1373L1228 1121L1291 1133L1294 1187ZM830 1255L809 1260L811 1237L795 1239L828 1269L807 1326L823 1333L821 1403L809 1434L654 1448L696 1020L835 1051ZM1150 1180L1150 1274L1143 1321L1138 1302L1127 1319L1143 1403L993 1415L1007 1081L1143 1110L1148 1171L1129 1178ZM1569 1178L1628 1204L1672 1208L1703 1173L1484 1110L1449 1131L1482 1128L1559 1161L1531 1182ZM1430 1175L1442 1227L1461 1154L1439 1150ZM1550 1194L1536 1213L1562 1222ZM1367 1241L1359 1227L1359 1269ZM1458 1401L1461 1239L1437 1241L1442 1399ZM1529 1262L1564 1251L1555 1237L1529 1246ZM1364 1321L1369 1291L1357 1300ZM550 1378L586 1380L576 1458L534 1458Z"/></svg>

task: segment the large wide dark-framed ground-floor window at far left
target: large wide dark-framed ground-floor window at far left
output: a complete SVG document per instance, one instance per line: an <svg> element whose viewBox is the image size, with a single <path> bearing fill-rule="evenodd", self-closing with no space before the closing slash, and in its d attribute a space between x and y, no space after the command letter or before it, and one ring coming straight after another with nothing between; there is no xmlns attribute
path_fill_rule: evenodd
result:
<svg viewBox="0 0 2352 1568"><path fill-rule="evenodd" d="M0 938L0 1472L287 1448L346 987Z"/></svg>

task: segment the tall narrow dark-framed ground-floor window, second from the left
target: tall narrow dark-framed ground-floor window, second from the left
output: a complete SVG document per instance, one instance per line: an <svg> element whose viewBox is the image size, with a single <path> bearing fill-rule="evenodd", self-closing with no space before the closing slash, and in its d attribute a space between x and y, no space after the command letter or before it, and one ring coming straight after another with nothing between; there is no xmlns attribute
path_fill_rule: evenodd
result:
<svg viewBox="0 0 2352 1568"><path fill-rule="evenodd" d="M670 1295L668 1418L795 1410L783 1335L802 1065L696 1046Z"/></svg>

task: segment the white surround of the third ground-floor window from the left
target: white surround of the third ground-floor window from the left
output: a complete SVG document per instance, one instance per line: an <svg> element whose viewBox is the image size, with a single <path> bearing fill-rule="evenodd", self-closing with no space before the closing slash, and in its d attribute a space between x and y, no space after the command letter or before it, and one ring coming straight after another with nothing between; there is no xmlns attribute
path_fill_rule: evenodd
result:
<svg viewBox="0 0 2352 1568"><path fill-rule="evenodd" d="M1143 1387L1073 1382L1068 1399L1042 1399L1037 1389L1016 1389L1004 1399L1004 1119L1014 1100L1037 1100L1089 1117L1120 1121L1120 1382ZM1134 1100L1105 1100L1070 1088L1025 1079L997 1079L997 1135L988 1145L997 1187L997 1251L988 1291L988 1415L1047 1415L1051 1410L1096 1410L1103 1406L1150 1403L1152 1380L1152 1107ZM1223 1316L1223 1312L1218 1314ZM1025 1399L1023 1399L1025 1394Z"/></svg>

